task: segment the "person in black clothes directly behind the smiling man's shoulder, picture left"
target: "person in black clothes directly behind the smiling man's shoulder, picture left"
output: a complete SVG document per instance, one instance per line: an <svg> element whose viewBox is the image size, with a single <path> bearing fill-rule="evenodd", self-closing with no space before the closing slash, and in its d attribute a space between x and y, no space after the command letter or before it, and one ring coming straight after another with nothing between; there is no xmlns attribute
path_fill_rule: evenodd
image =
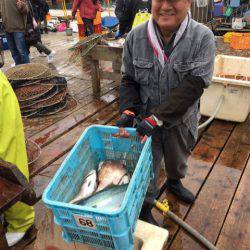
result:
<svg viewBox="0 0 250 250"><path fill-rule="evenodd" d="M119 29L115 38L118 39L128 33L132 28L136 14L144 10L151 13L151 0L117 0L115 15L119 20Z"/></svg>

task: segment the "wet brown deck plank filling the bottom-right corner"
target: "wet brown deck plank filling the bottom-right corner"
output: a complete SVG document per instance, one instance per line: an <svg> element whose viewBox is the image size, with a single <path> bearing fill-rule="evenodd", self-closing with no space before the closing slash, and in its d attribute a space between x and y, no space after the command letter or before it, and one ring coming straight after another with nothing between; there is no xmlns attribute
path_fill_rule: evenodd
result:
<svg viewBox="0 0 250 250"><path fill-rule="evenodd" d="M250 247L250 159L243 173L233 203L216 246L218 249L249 249Z"/></svg>

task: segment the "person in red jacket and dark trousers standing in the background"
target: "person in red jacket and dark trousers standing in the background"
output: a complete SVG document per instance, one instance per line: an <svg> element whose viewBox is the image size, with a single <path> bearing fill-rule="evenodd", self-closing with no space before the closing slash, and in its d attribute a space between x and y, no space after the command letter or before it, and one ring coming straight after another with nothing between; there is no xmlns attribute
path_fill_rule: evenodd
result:
<svg viewBox="0 0 250 250"><path fill-rule="evenodd" d="M77 9L84 23L84 34L89 36L94 33L94 19L97 11L102 11L99 0L74 0L71 20L75 18Z"/></svg>

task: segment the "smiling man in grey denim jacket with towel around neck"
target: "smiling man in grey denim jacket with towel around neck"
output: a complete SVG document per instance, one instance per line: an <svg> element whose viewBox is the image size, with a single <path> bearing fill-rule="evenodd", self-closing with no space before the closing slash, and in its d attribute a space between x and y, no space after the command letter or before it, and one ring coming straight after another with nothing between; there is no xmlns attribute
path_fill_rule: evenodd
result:
<svg viewBox="0 0 250 250"><path fill-rule="evenodd" d="M211 82L215 56L213 33L190 17L190 5L191 0L152 0L151 19L128 34L120 88L122 115L117 122L130 127L140 116L137 132L142 141L152 135L155 177L147 198L157 196L164 158L166 186L186 203L195 197L181 178L196 143L198 102ZM146 199L140 218L156 224L151 208Z"/></svg>

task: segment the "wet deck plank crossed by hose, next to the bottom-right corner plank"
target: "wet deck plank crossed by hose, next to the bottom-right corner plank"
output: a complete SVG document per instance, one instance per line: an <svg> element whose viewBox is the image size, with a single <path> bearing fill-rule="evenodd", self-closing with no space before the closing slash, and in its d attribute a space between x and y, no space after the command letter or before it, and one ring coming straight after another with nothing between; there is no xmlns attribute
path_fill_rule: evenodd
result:
<svg viewBox="0 0 250 250"><path fill-rule="evenodd" d="M209 174L186 222L212 243L220 233L242 171L250 152L250 117L238 124ZM200 249L200 245L182 230L171 249Z"/></svg>

